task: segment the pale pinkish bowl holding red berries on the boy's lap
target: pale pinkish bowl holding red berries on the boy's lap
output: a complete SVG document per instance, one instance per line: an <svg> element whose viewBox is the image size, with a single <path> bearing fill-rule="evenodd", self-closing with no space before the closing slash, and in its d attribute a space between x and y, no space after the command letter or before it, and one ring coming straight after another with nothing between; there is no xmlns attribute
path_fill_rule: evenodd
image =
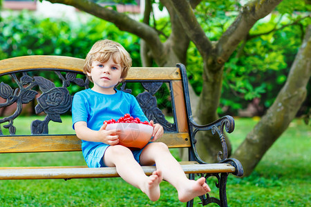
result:
<svg viewBox="0 0 311 207"><path fill-rule="evenodd" d="M106 130L120 130L119 144L131 148L143 148L151 139L153 127L147 124L115 123L108 124Z"/></svg>

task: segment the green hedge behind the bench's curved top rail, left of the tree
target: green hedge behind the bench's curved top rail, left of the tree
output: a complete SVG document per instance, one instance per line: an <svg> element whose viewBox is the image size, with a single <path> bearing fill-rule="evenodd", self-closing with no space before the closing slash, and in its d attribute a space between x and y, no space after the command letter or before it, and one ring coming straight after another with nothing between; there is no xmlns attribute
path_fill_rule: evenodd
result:
<svg viewBox="0 0 311 207"><path fill-rule="evenodd" d="M90 18L82 25L62 19L44 19L26 11L12 13L0 22L0 59L24 55L62 55L84 59L93 43L100 39L120 42L131 51L133 66L140 66L138 37L121 32L112 23ZM56 75L55 78L51 74L48 76L59 81Z"/></svg>

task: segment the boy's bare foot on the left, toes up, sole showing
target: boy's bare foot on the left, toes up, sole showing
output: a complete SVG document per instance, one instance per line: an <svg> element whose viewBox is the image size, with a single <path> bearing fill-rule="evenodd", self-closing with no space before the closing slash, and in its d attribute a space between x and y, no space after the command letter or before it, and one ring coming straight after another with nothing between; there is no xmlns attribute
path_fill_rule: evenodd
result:
<svg viewBox="0 0 311 207"><path fill-rule="evenodd" d="M151 201L157 201L160 198L160 182L162 181L161 170L156 170L148 177L145 190L142 190Z"/></svg>

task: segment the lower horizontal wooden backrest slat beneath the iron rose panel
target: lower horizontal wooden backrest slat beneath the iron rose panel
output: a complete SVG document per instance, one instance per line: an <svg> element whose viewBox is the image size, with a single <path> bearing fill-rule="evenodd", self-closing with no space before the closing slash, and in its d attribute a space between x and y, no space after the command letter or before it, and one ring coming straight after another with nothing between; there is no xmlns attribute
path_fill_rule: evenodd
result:
<svg viewBox="0 0 311 207"><path fill-rule="evenodd" d="M190 146L188 133L166 133L158 139L169 148ZM76 135L0 136L0 153L80 151L81 140Z"/></svg>

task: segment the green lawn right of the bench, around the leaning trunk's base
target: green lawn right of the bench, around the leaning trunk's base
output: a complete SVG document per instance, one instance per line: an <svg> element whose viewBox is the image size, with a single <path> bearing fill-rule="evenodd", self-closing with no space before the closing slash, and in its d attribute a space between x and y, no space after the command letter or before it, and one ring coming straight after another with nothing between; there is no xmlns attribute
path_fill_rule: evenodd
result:
<svg viewBox="0 0 311 207"><path fill-rule="evenodd" d="M236 119L231 139L236 148L256 121ZM243 135L243 136L241 136ZM229 177L230 206L311 206L311 130L301 119L267 151L249 177Z"/></svg>

